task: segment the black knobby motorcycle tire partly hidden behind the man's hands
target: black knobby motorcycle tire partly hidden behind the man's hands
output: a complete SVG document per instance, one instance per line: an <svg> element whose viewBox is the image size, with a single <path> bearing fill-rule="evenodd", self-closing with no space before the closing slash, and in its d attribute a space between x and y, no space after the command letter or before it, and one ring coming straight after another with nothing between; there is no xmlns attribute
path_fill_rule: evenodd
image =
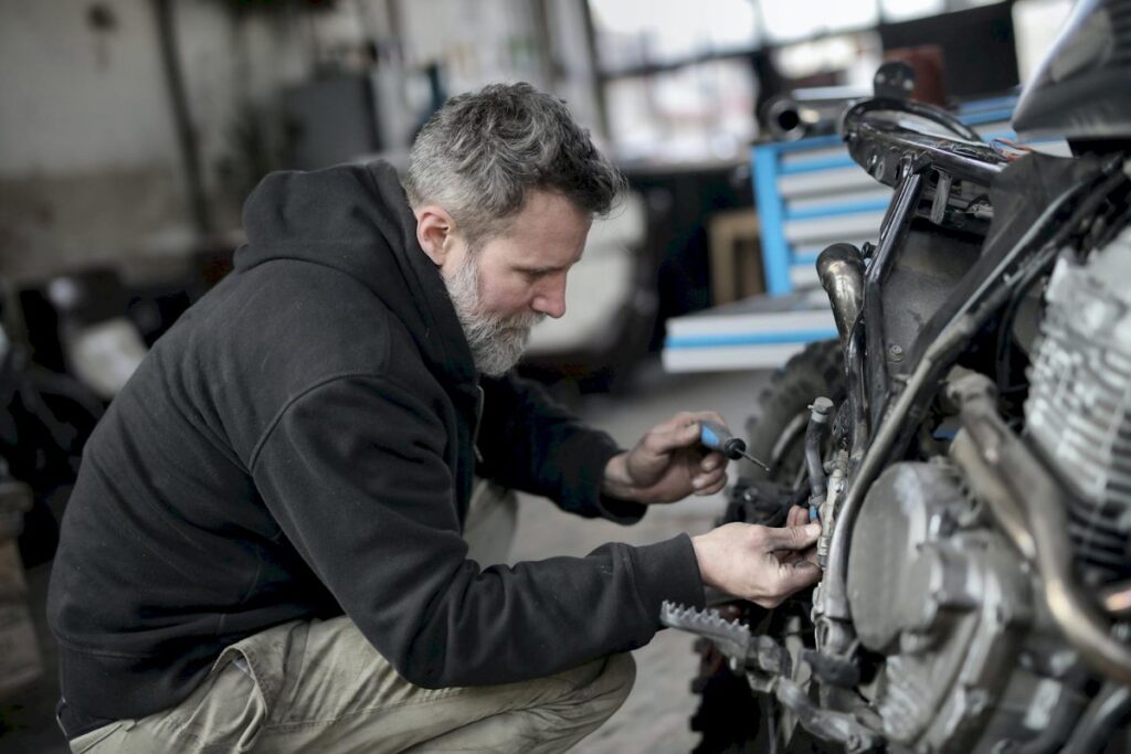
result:
<svg viewBox="0 0 1131 754"><path fill-rule="evenodd" d="M743 461L740 476L800 484L805 478L804 444L809 423L809 406L824 396L839 404L845 397L845 379L840 344L819 340L805 347L778 370L754 400L746 422L748 450L770 466L767 473L750 461ZM719 523L729 523L728 519ZM751 625L766 621L757 606L724 606ZM691 729L701 734L693 754L744 754L769 752L772 726L767 714L771 705L754 694L746 679L734 674L722 656L707 641L696 643L699 675L691 688L699 695L699 707L691 718ZM813 752L821 747L809 736L795 735L791 752Z"/></svg>

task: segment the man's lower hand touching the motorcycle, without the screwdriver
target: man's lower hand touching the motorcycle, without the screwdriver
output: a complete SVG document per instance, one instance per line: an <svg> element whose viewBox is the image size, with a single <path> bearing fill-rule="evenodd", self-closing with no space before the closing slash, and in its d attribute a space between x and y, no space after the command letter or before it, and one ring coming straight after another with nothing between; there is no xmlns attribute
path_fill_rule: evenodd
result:
<svg viewBox="0 0 1131 754"><path fill-rule="evenodd" d="M821 525L798 518L791 514L791 526L780 529L727 523L692 537L703 583L762 607L777 607L815 583L821 569L813 545Z"/></svg>

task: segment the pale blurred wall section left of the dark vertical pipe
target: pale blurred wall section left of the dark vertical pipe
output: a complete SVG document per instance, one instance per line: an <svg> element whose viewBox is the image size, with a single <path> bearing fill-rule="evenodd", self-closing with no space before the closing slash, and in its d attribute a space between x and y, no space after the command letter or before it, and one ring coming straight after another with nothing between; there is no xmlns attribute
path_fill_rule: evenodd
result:
<svg viewBox="0 0 1131 754"><path fill-rule="evenodd" d="M35 275L191 237L150 7L0 0L0 269Z"/></svg>

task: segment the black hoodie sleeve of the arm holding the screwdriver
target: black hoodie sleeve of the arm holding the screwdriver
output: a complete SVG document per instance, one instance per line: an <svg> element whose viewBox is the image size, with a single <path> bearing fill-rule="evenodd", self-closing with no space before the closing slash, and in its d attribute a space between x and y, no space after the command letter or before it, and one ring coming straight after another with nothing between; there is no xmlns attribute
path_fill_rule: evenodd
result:
<svg viewBox="0 0 1131 754"><path fill-rule="evenodd" d="M570 513L634 523L646 505L601 494L605 466L621 448L587 427L542 385L508 374L483 379L476 445L480 473L499 484L550 497Z"/></svg>

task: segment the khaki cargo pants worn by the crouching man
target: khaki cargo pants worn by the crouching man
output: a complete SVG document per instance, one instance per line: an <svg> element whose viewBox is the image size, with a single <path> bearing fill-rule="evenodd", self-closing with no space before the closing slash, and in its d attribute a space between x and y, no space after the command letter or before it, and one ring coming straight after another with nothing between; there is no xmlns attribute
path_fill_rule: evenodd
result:
<svg viewBox="0 0 1131 754"><path fill-rule="evenodd" d="M504 556L500 526L513 529L513 497L493 492L481 487L468 517L481 564ZM476 552L473 532L484 528L493 555ZM620 708L634 676L631 656L616 655L535 681L428 690L398 676L347 617L295 621L228 647L176 707L70 745L76 754L562 752Z"/></svg>

